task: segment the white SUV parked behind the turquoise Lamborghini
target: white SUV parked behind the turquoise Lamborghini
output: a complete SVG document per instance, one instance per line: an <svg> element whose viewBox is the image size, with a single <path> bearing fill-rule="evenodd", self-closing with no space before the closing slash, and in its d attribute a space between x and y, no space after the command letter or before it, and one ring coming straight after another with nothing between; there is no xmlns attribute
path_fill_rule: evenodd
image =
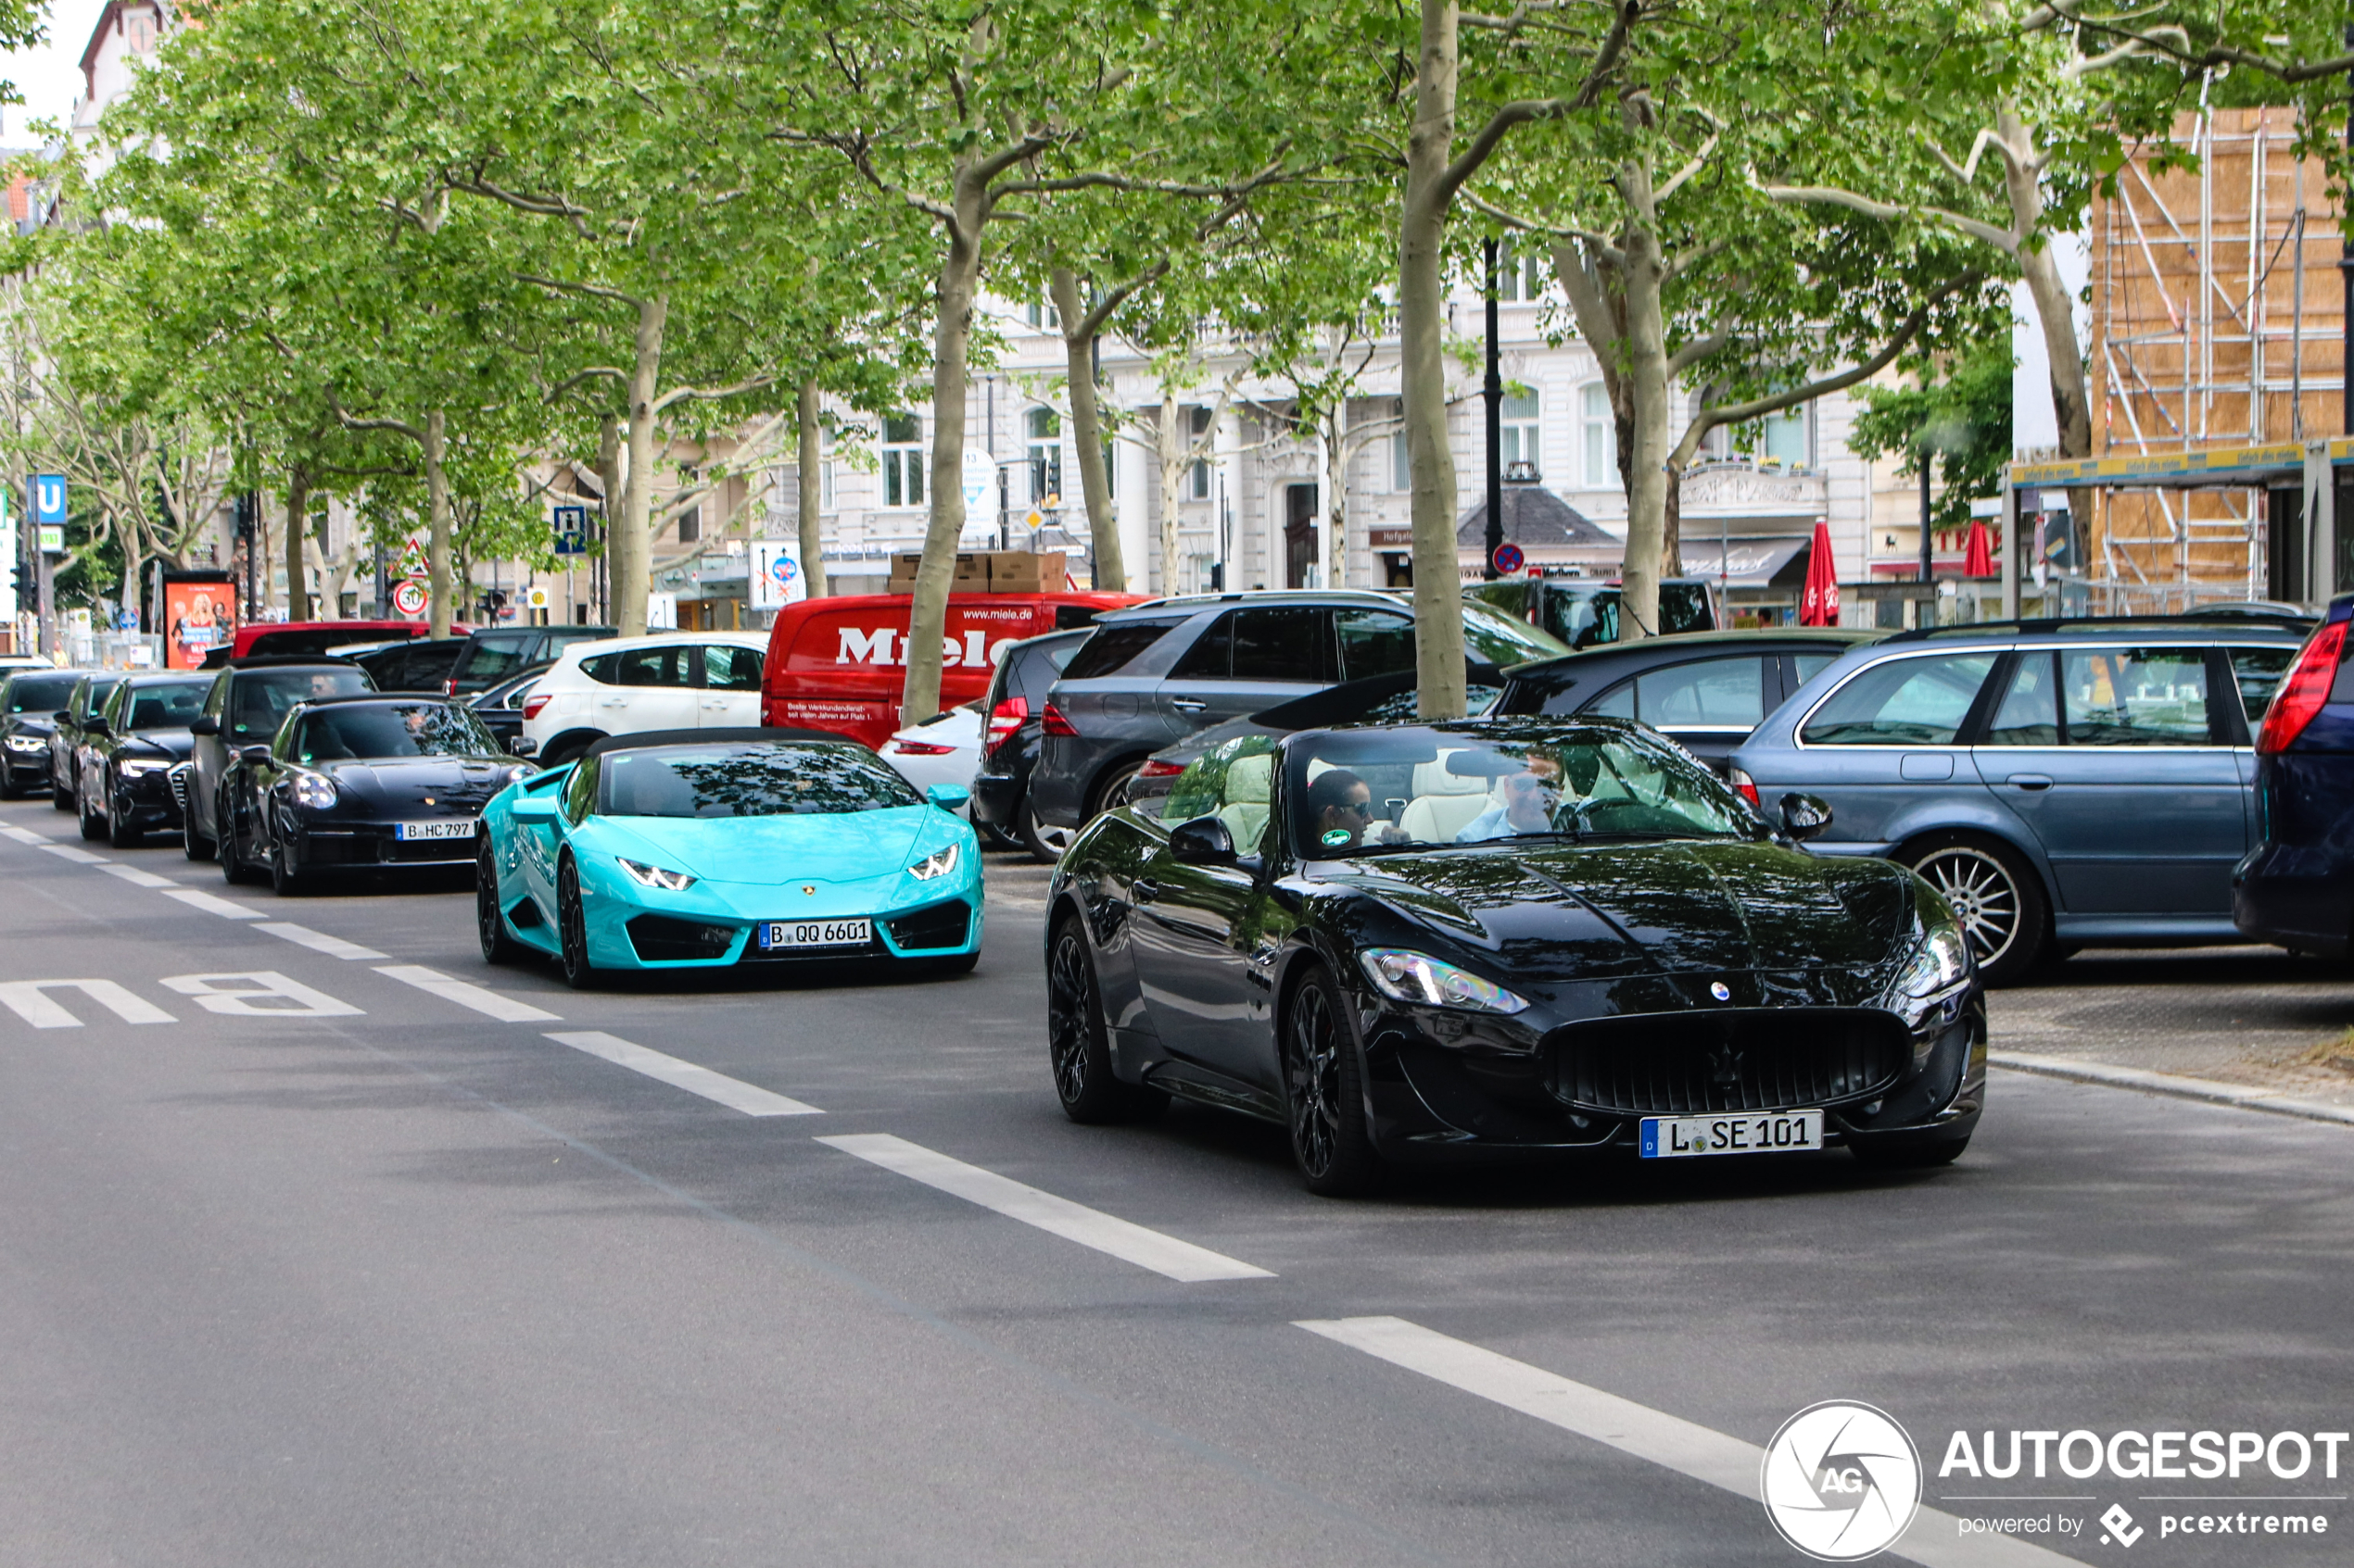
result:
<svg viewBox="0 0 2354 1568"><path fill-rule="evenodd" d="M523 738L558 766L605 736L760 724L767 632L654 632L577 642L523 701Z"/></svg>

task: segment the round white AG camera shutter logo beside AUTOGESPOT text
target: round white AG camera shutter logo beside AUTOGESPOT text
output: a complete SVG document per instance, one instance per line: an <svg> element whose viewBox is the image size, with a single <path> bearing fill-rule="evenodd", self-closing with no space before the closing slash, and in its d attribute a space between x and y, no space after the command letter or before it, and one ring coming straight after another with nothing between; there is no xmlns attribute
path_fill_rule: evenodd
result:
<svg viewBox="0 0 2354 1568"><path fill-rule="evenodd" d="M1827 1399L1782 1422L1758 1474L1766 1519L1822 1563L1893 1547L1921 1509L1921 1450L1886 1410Z"/></svg>

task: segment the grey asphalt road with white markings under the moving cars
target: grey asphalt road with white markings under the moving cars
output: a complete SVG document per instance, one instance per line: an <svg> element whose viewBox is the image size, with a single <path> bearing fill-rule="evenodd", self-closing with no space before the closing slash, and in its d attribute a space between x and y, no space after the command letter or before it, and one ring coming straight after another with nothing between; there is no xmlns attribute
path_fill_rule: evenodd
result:
<svg viewBox="0 0 2354 1568"><path fill-rule="evenodd" d="M1999 1072L1930 1175L1321 1201L1276 1128L1064 1121L1043 875L991 886L965 978L577 994L457 884L278 900L0 806L0 1563L1794 1563L1756 1448L1827 1399L1921 1448L1914 1561L2345 1561L2354 1450L1937 1474L2347 1429L2345 1126Z"/></svg>

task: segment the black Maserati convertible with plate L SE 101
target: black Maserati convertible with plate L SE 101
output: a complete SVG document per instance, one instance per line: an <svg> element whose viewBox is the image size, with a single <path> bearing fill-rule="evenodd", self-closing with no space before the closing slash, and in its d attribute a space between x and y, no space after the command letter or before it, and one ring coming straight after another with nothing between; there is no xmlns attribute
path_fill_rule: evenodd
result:
<svg viewBox="0 0 2354 1568"><path fill-rule="evenodd" d="M1622 719L1236 738L1057 867L1057 1095L1283 1121L1330 1194L1492 1154L1951 1161L1970 947L1909 870L1806 853L1822 802L1780 816Z"/></svg>

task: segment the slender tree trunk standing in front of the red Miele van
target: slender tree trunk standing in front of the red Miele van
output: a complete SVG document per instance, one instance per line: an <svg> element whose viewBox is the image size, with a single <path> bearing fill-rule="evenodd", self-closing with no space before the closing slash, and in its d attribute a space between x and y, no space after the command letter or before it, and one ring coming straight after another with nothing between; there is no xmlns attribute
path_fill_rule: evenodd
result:
<svg viewBox="0 0 2354 1568"><path fill-rule="evenodd" d="M960 172L956 219L946 223L949 254L939 263L939 327L932 336L932 515L906 611L902 724L920 724L939 712L949 585L956 578L956 543L965 534L965 355L972 346L972 296L982 282L984 221L984 190Z"/></svg>

